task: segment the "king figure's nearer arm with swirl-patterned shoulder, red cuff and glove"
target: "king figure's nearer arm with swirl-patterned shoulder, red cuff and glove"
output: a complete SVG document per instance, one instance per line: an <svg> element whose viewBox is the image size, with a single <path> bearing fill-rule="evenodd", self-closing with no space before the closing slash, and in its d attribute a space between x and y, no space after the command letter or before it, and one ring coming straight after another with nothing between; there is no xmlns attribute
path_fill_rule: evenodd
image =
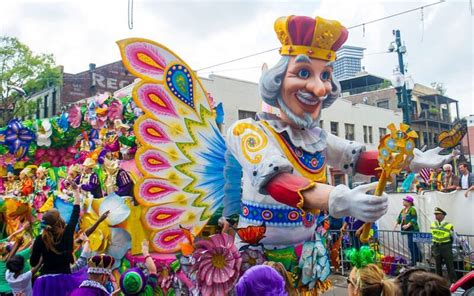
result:
<svg viewBox="0 0 474 296"><path fill-rule="evenodd" d="M303 211L327 209L336 218L353 216L367 222L379 219L387 211L386 195L367 194L376 183L351 190L345 185L334 187L314 183L295 174L292 164L271 140L271 135L251 119L239 121L229 128L227 144L252 186L282 204ZM355 159L352 155L352 152L350 155L341 153L340 157Z"/></svg>

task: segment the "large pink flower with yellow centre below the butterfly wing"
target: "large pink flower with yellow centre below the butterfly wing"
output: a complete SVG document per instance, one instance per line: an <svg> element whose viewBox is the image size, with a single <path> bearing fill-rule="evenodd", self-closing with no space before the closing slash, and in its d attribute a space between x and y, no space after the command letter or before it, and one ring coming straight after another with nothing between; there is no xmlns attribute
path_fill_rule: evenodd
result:
<svg viewBox="0 0 474 296"><path fill-rule="evenodd" d="M234 238L226 233L212 235L195 243L193 257L196 279L203 296L224 296L239 277L242 259Z"/></svg>

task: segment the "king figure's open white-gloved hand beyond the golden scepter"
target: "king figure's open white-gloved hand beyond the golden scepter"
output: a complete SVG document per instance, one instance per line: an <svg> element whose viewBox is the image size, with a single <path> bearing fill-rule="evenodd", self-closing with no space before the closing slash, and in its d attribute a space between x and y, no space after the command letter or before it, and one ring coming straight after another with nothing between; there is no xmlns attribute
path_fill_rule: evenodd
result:
<svg viewBox="0 0 474 296"><path fill-rule="evenodd" d="M418 173L424 168L436 169L446 163L450 163L453 157L456 156L457 151L453 151L453 153L448 155L440 155L439 152L441 152L441 150L443 150L443 148L436 147L423 152L415 148L413 151L414 158L410 163L410 169L415 173Z"/></svg>

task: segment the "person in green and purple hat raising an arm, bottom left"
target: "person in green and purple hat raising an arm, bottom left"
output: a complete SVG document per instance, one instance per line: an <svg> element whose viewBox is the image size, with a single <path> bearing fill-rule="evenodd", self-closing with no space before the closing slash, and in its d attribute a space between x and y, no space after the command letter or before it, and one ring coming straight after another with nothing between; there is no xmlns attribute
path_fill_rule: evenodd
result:
<svg viewBox="0 0 474 296"><path fill-rule="evenodd" d="M142 254L145 257L145 266L148 276L140 268L130 268L120 276L120 291L125 296L154 295L153 290L158 284L156 265L149 253L148 241L142 242Z"/></svg>

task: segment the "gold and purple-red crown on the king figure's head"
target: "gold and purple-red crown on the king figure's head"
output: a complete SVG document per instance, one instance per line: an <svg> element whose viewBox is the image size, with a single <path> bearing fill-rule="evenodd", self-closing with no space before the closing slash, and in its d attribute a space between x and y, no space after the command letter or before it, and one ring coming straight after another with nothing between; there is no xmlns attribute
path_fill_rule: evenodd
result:
<svg viewBox="0 0 474 296"><path fill-rule="evenodd" d="M290 22L291 28L295 29L293 31ZM310 42L307 40L308 28L313 30ZM305 54L326 61L336 60L336 50L347 39L347 29L341 23L321 17L280 17L275 21L275 32L282 45L281 55ZM333 48L335 44L337 48Z"/></svg>

